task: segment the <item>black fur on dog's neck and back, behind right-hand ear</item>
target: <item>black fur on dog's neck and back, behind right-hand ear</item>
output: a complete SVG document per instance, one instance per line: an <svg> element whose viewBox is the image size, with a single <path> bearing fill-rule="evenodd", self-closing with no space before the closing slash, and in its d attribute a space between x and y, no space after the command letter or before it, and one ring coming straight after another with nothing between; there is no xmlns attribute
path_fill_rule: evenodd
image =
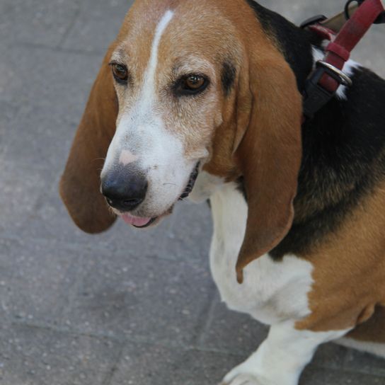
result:
<svg viewBox="0 0 385 385"><path fill-rule="evenodd" d="M321 39L253 0L247 1L284 54L302 91L314 66L313 47L321 49ZM302 126L294 224L270 253L274 258L309 252L321 237L338 229L374 181L385 175L385 130L381 130L385 113L380 101L385 98L385 81L361 67L353 71L352 79L353 86L344 98L333 98Z"/></svg>

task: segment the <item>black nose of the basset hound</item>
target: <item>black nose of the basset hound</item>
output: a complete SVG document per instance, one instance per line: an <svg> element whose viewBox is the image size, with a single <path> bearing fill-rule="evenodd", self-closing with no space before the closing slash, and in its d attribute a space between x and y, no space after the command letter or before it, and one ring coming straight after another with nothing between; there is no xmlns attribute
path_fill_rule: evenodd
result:
<svg viewBox="0 0 385 385"><path fill-rule="evenodd" d="M101 190L108 205L122 212L132 211L146 197L147 180L137 172L121 169L102 179Z"/></svg>

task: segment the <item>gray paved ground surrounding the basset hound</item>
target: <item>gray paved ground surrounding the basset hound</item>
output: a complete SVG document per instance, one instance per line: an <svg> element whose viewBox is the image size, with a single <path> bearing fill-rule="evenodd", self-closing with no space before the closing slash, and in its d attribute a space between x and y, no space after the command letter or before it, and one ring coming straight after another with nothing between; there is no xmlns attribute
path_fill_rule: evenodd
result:
<svg viewBox="0 0 385 385"><path fill-rule="evenodd" d="M343 1L263 1L293 21ZM221 304L206 205L157 229L87 236L57 193L126 0L0 0L0 384L214 385L267 329ZM385 26L354 57L385 76ZM385 384L385 361L329 344L301 385Z"/></svg>

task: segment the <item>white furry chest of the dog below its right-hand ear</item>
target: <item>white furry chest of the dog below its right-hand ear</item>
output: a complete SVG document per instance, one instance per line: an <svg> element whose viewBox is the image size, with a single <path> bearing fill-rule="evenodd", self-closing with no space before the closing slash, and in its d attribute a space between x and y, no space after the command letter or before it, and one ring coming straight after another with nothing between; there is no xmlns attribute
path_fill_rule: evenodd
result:
<svg viewBox="0 0 385 385"><path fill-rule="evenodd" d="M246 230L246 201L233 183L217 190L210 200L214 219L210 268L227 306L269 324L309 314L311 263L294 255L282 262L263 255L246 267L239 285L235 265Z"/></svg>

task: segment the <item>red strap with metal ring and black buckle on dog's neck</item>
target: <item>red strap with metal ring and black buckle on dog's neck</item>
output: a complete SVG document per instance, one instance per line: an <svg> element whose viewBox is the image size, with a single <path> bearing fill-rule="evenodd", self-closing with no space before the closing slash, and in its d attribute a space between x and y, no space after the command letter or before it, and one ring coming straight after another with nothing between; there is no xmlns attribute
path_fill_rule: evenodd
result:
<svg viewBox="0 0 385 385"><path fill-rule="evenodd" d="M343 20L341 13L331 19L317 16L318 19L313 23L306 21L302 24L303 28L313 30L324 40L329 41L324 59L316 64L316 70L306 81L304 91L304 115L306 118L313 117L316 111L326 105L333 98L340 85L347 86L351 83L351 81L347 81L347 76L342 72L345 62L350 57L350 52L375 21L381 22L381 18L385 18L385 10L381 0L361 0L355 4L352 4L352 0L350 0L345 9L352 16L340 28L339 33L336 33L329 26L334 25L338 30L341 20ZM346 11L342 15L345 13Z"/></svg>

